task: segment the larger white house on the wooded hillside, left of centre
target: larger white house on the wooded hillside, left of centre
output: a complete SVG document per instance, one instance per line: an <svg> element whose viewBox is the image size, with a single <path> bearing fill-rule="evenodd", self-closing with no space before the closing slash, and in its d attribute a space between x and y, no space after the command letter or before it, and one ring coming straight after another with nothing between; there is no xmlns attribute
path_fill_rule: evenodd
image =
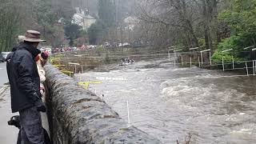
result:
<svg viewBox="0 0 256 144"><path fill-rule="evenodd" d="M96 18L92 17L89 10L81 10L79 7L75 8L76 14L73 16L72 23L82 26L82 30L88 30L89 27L96 22Z"/></svg>

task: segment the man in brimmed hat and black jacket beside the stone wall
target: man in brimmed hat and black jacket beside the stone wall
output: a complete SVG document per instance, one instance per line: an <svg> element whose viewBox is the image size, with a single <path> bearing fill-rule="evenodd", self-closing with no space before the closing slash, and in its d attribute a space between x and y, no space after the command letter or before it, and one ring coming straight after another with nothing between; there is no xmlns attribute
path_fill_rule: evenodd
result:
<svg viewBox="0 0 256 144"><path fill-rule="evenodd" d="M40 98L40 78L34 58L40 54L37 49L40 33L27 30L19 46L15 47L7 60L7 74L10 82L11 109L19 112L22 144L45 144L40 112L46 112Z"/></svg>

